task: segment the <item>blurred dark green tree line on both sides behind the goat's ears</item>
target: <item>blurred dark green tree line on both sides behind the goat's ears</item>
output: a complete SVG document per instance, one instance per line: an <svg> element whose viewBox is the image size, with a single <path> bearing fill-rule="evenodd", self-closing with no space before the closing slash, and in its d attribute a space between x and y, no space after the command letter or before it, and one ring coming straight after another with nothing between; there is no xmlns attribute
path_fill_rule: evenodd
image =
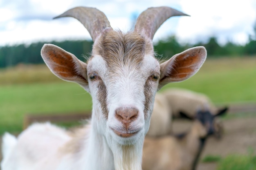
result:
<svg viewBox="0 0 256 170"><path fill-rule="evenodd" d="M20 44L15 46L0 47L0 68L15 66L19 63L39 64L43 63L40 56L40 50L45 43L55 44L68 52L71 52L80 60L85 61L84 56L90 57L92 50L92 41L52 41L37 42L30 45ZM250 38L245 45L237 45L231 42L220 46L215 37L211 37L207 43L180 44L175 36L168 37L165 41L159 41L155 44L157 57L168 59L174 54L180 53L194 46L204 46L207 49L208 57L244 57L256 55L256 40Z"/></svg>

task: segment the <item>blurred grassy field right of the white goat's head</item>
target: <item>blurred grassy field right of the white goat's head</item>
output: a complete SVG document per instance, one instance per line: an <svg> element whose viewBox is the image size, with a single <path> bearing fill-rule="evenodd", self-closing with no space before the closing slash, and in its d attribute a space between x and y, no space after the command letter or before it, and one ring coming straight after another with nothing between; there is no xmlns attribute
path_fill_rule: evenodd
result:
<svg viewBox="0 0 256 170"><path fill-rule="evenodd" d="M207 94L215 103L256 101L256 57L207 60L192 78L170 83Z"/></svg>

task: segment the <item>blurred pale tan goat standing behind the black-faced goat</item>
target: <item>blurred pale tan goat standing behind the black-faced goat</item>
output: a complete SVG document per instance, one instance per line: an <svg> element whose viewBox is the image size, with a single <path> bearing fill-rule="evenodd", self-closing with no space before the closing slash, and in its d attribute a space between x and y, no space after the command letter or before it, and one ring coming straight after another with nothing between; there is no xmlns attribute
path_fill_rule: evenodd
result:
<svg viewBox="0 0 256 170"><path fill-rule="evenodd" d="M186 89L172 88L155 95L154 109L150 120L148 136L161 136L171 133L172 118L182 118L182 115L195 117L197 109L208 107L212 115L226 112L228 107L218 109L209 97ZM181 114L182 113L182 114ZM214 121L217 138L220 138L223 125L218 118Z"/></svg>

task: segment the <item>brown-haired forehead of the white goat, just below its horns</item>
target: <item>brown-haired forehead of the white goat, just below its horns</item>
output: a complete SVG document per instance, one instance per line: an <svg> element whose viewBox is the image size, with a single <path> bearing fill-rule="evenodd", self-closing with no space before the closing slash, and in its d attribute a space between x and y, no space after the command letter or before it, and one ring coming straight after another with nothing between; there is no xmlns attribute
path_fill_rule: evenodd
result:
<svg viewBox="0 0 256 170"><path fill-rule="evenodd" d="M94 44L93 54L99 54L106 61L110 71L129 66L139 68L145 54L153 54L152 43L137 33L110 31Z"/></svg>

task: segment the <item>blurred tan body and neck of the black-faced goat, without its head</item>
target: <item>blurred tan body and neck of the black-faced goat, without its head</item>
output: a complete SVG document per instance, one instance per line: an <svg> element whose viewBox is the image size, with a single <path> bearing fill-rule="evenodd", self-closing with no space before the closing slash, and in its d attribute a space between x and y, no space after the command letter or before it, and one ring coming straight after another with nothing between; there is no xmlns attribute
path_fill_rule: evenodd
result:
<svg viewBox="0 0 256 170"><path fill-rule="evenodd" d="M198 131L200 124L194 123L191 130L180 139L171 135L153 138L145 137L143 148L143 170L191 170L200 148ZM202 134L200 134L202 133Z"/></svg>

